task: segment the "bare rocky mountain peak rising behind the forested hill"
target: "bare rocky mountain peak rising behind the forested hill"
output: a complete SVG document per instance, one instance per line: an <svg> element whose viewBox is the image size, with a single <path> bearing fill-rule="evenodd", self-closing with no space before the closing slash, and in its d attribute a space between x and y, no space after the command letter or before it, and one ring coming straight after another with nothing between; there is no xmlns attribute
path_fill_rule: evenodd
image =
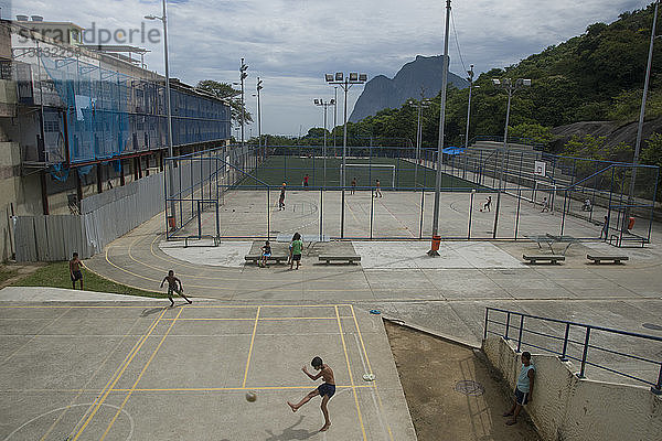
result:
<svg viewBox="0 0 662 441"><path fill-rule="evenodd" d="M420 99L421 86L426 98L437 96L441 90L442 58L442 55L417 55L416 60L405 64L393 79L384 75L372 78L365 84L350 116L350 121L360 121L385 108L398 108L409 98ZM448 83L460 89L469 87L466 79L450 72L448 73Z"/></svg>

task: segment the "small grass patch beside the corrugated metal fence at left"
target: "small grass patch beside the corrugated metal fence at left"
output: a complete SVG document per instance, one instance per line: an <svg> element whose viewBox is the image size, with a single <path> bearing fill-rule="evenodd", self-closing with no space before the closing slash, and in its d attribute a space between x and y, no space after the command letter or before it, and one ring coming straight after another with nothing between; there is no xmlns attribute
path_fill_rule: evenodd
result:
<svg viewBox="0 0 662 441"><path fill-rule="evenodd" d="M151 297L151 298L168 298L163 292L143 291L140 289L127 287L116 283L108 279L83 268L83 288L86 291L110 292L114 294ZM52 287L52 288L72 288L70 278L68 261L58 261L49 263L34 271L33 273L12 283L14 287Z"/></svg>

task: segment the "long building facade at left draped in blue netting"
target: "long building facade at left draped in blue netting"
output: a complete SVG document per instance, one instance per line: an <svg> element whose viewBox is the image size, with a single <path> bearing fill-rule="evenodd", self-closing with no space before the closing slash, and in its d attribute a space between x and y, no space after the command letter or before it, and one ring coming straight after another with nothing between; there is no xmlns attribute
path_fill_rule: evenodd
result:
<svg viewBox="0 0 662 441"><path fill-rule="evenodd" d="M84 47L75 24L55 23L67 43L31 23L0 22L3 260L12 216L76 214L84 197L162 171L168 154L163 76ZM171 78L171 106L175 155L228 143L223 100Z"/></svg>

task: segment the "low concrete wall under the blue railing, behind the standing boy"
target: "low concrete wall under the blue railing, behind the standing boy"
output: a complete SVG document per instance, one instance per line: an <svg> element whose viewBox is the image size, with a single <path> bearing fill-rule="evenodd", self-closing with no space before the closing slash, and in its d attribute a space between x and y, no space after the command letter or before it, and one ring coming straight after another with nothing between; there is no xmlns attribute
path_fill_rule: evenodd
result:
<svg viewBox="0 0 662 441"><path fill-rule="evenodd" d="M483 352L515 387L520 354L502 337L483 341ZM533 355L535 387L526 406L543 440L662 440L662 397L648 388L579 379L572 363Z"/></svg>

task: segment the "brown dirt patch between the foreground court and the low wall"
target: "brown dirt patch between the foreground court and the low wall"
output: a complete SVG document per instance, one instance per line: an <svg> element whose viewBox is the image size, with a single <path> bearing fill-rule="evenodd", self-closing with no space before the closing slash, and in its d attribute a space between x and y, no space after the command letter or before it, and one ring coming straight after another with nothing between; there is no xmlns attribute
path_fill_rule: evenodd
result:
<svg viewBox="0 0 662 441"><path fill-rule="evenodd" d="M505 426L511 397L480 353L393 323L385 327L419 441L540 440L526 418ZM463 392L456 390L459 381L466 381L458 387Z"/></svg>

